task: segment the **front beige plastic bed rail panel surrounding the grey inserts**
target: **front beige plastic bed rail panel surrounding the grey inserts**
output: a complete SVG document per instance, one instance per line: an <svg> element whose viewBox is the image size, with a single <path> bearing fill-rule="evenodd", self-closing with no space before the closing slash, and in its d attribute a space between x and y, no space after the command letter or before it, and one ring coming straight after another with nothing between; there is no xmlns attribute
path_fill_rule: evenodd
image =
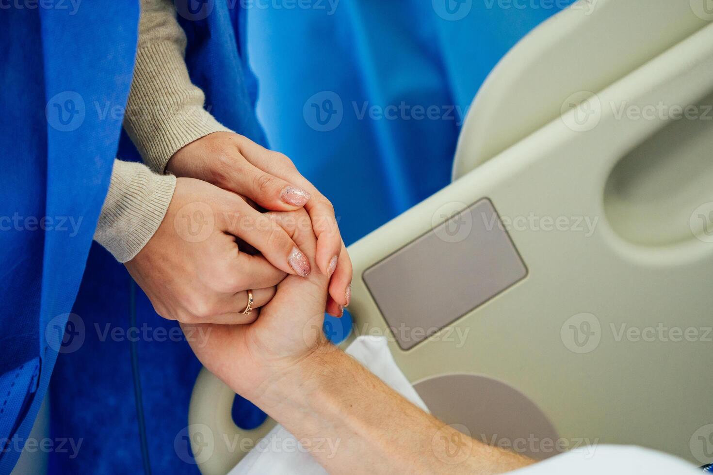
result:
<svg viewBox="0 0 713 475"><path fill-rule="evenodd" d="M486 375L527 395L565 440L709 461L697 436L713 422L712 44L713 25L349 249L364 275L483 197L509 223L528 276L432 341L404 351L394 337L410 380ZM659 103L692 106L692 118L636 118ZM363 280L352 295L356 329L388 335Z"/></svg>

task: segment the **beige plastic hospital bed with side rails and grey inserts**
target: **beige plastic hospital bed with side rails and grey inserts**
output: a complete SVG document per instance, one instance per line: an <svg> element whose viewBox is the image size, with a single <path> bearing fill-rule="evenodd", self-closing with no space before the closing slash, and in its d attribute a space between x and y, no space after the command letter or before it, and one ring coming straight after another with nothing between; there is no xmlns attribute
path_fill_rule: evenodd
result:
<svg viewBox="0 0 713 475"><path fill-rule="evenodd" d="M453 183L349 247L342 345L387 335L431 412L477 439L637 444L702 465L711 104L709 0L589 0L546 21L478 92ZM189 433L210 453L203 474L242 457L221 440L275 424L240 429L234 397L202 370Z"/></svg>

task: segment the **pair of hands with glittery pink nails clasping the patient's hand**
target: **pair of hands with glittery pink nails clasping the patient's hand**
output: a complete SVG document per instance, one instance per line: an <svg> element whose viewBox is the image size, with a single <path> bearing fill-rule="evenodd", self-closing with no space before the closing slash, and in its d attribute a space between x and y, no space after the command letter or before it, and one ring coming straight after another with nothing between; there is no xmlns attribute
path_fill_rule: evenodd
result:
<svg viewBox="0 0 713 475"><path fill-rule="evenodd" d="M167 171L178 177L168 212L126 263L159 315L189 324L250 323L285 276L315 273L329 286L322 310L342 314L352 263L334 209L287 157L215 132L176 152ZM288 214L277 219L262 209ZM312 234L311 253L307 240L293 239L295 229Z"/></svg>

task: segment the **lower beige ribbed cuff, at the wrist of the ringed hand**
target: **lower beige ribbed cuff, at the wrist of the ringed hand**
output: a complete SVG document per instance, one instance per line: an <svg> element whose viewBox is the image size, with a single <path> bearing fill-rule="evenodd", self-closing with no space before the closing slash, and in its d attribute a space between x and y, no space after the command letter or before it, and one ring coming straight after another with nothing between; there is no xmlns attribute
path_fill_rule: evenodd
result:
<svg viewBox="0 0 713 475"><path fill-rule="evenodd" d="M135 162L114 160L94 239L119 262L130 261L163 221L176 179Z"/></svg>

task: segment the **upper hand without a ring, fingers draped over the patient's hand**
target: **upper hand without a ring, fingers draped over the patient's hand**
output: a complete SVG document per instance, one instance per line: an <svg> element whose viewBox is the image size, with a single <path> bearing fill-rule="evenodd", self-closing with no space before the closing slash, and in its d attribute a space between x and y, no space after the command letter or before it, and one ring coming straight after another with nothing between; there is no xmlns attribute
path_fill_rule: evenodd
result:
<svg viewBox="0 0 713 475"><path fill-rule="evenodd" d="M334 208L289 158L232 132L214 132L175 152L166 170L241 194L271 211L304 207L317 235L317 268L328 276L327 312L342 315L351 299L352 261L339 234Z"/></svg>

